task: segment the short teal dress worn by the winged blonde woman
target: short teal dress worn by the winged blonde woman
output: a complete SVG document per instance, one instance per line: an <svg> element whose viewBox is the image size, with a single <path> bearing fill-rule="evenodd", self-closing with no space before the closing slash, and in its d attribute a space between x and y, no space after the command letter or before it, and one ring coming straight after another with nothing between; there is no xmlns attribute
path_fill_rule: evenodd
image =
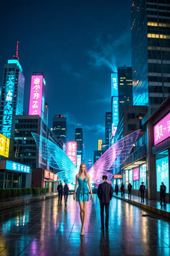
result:
<svg viewBox="0 0 170 256"><path fill-rule="evenodd" d="M87 177L83 180L81 177L78 177L78 188L75 192L76 201L88 201L89 200L89 192L87 187Z"/></svg>

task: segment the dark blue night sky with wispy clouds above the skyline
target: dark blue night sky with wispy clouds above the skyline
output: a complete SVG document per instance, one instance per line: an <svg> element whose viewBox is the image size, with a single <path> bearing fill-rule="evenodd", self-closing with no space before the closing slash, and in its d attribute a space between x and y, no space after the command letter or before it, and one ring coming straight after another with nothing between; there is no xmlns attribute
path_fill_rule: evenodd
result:
<svg viewBox="0 0 170 256"><path fill-rule="evenodd" d="M16 52L25 77L28 113L32 72L43 72L48 126L67 117L68 140L83 129L85 162L97 140L105 142L105 112L111 111L111 73L131 66L131 1L3 1L0 15L0 82Z"/></svg>

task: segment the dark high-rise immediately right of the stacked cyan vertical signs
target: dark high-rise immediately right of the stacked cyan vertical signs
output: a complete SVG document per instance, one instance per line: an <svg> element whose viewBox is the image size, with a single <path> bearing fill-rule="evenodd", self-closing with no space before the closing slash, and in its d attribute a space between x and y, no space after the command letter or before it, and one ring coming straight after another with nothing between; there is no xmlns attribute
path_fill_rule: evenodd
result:
<svg viewBox="0 0 170 256"><path fill-rule="evenodd" d="M133 80L131 67L117 68L118 76L118 113L121 117L124 106L133 105Z"/></svg>

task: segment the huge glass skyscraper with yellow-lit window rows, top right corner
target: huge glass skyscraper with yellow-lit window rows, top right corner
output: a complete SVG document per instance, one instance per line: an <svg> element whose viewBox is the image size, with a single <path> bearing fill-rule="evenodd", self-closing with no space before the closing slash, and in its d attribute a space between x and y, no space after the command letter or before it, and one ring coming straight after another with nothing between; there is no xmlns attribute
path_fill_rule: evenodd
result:
<svg viewBox="0 0 170 256"><path fill-rule="evenodd" d="M170 93L170 2L132 1L133 104L148 115Z"/></svg>

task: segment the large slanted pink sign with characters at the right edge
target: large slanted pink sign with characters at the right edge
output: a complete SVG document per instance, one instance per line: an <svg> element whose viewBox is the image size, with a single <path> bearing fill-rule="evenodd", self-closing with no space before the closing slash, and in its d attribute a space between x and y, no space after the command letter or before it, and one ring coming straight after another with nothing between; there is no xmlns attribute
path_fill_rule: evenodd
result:
<svg viewBox="0 0 170 256"><path fill-rule="evenodd" d="M170 113L154 125L154 145L170 136Z"/></svg>

